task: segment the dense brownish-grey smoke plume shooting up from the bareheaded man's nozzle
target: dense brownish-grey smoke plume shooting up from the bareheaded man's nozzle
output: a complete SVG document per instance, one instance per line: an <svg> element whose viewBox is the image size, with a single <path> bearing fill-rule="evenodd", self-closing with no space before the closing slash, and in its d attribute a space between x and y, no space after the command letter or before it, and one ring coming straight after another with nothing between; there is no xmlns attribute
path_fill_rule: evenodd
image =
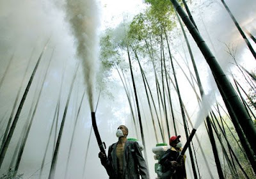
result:
<svg viewBox="0 0 256 179"><path fill-rule="evenodd" d="M93 111L93 84L95 83L99 54L99 35L97 32L100 21L96 1L67 0L66 15L76 38L76 54L82 62L90 109Z"/></svg>

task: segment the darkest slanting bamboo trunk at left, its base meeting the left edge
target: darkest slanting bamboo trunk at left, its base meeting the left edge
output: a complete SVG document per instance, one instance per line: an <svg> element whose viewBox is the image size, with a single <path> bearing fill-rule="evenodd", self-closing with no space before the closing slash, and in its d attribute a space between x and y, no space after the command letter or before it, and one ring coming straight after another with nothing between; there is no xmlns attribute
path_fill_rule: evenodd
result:
<svg viewBox="0 0 256 179"><path fill-rule="evenodd" d="M48 42L49 42L49 40L48 40ZM48 42L47 42L47 43L48 43ZM47 43L46 43L46 45L45 45L43 51L41 52L41 54L40 54L40 56L39 56L39 58L38 58L38 61L36 62L35 68L34 68L32 74L31 74L31 77L30 77L30 79L29 79L28 85L27 85L27 87L26 87L26 89L25 89L25 91L24 91L24 94L23 94L23 96L22 96L22 99L21 99L21 101L20 101L20 104L19 104L17 113L15 114L15 118L14 118L14 120L13 120L13 123L12 123L12 126L11 126L11 128L10 128L9 134L8 134L8 136L6 137L6 141L4 142L3 150L2 150L1 153L0 153L0 168L1 168L2 164L3 164L3 160L4 160L5 154L6 154L6 152L7 152L7 148L8 148L8 146L9 146L9 144L10 144L11 139L12 139L13 132L14 132L15 127L16 127L16 125L17 125L17 122L18 122L18 120L19 120L20 112L21 112L21 110L22 110L22 107L23 107L24 102L25 102L25 100L26 100L26 97L27 97L27 95L28 95L28 91L29 91L29 88L30 88L31 83L32 83L32 81L33 81L33 78L34 78L34 76L35 76L36 70L37 70L38 65L39 65L39 63L40 63L40 60L42 59L42 56L43 56L43 54L44 54L44 52L45 52L45 50L46 50Z"/></svg>

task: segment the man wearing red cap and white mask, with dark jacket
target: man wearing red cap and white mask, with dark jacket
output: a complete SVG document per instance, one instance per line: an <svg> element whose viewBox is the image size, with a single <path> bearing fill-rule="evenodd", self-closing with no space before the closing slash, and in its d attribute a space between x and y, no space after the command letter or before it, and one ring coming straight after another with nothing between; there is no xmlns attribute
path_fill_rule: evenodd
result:
<svg viewBox="0 0 256 179"><path fill-rule="evenodd" d="M182 151L182 143L180 142L180 136L172 136L169 140L170 149L168 149L162 159L159 161L159 164L162 166L163 175L161 178L168 179L184 179L186 178L186 169L185 169L185 159L186 156L183 156L183 159L176 161L177 157Z"/></svg>

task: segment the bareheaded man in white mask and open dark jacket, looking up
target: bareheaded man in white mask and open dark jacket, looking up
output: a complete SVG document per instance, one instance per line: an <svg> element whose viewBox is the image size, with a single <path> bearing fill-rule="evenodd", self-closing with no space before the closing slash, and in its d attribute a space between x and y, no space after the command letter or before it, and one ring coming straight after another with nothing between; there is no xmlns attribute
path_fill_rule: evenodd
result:
<svg viewBox="0 0 256 179"><path fill-rule="evenodd" d="M108 158L99 153L109 179L148 179L148 169L136 141L127 141L128 128L120 125L116 131L118 142L109 146Z"/></svg>

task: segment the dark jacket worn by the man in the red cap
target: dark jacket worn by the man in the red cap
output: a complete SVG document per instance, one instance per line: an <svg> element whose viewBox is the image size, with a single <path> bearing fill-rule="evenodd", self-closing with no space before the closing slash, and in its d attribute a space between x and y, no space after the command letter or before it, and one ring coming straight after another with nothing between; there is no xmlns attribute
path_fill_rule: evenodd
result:
<svg viewBox="0 0 256 179"><path fill-rule="evenodd" d="M180 148L180 151L182 149ZM175 148L168 149L161 160L159 160L159 164L162 166L163 176L162 178L170 178L172 179L184 179L186 178L186 169L185 169L185 159L186 155L182 157L180 161L177 161L179 164L177 167L173 167L171 161L175 161L179 156L180 152L177 152Z"/></svg>

